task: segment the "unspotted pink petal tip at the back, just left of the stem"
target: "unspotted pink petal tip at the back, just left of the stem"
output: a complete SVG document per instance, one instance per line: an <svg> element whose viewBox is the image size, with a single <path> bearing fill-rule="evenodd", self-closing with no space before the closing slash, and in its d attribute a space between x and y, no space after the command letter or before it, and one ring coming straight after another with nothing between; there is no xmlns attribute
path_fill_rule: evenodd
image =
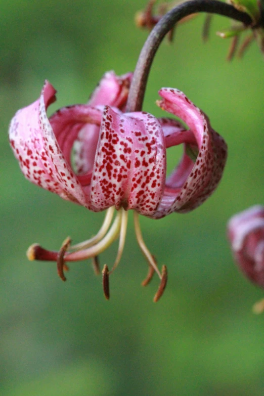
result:
<svg viewBox="0 0 264 396"><path fill-rule="evenodd" d="M106 72L88 102L90 106L104 105L124 108L133 73L117 76L114 71Z"/></svg>

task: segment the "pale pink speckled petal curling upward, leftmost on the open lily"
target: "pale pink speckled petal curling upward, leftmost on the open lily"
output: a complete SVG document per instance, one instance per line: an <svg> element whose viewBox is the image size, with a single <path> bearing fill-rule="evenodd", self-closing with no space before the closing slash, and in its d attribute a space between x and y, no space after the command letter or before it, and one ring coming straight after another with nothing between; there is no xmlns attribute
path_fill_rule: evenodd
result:
<svg viewBox="0 0 264 396"><path fill-rule="evenodd" d="M86 206L88 201L54 135L46 109L56 100L46 81L40 98L11 120L9 139L25 177L60 197Z"/></svg>

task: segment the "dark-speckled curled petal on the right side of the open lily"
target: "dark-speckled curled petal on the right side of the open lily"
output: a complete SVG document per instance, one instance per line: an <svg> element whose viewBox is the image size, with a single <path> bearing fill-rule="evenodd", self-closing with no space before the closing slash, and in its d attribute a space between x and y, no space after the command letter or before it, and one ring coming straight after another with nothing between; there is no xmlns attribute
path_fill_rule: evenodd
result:
<svg viewBox="0 0 264 396"><path fill-rule="evenodd" d="M193 165L184 153L182 161L166 181L162 201L154 215L156 218L174 211L188 212L204 202L219 183L227 157L227 146L211 128L208 117L181 91L163 88L159 94L163 99L157 102L158 106L180 117L190 127L199 153ZM191 134L190 131L175 131L173 139L176 144L194 144Z"/></svg>

